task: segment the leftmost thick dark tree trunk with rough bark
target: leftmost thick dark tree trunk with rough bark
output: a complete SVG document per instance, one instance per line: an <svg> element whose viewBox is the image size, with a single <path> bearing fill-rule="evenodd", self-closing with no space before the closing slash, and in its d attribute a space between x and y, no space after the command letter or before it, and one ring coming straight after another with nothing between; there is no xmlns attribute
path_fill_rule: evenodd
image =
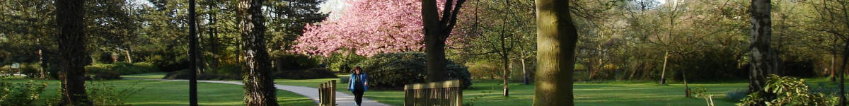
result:
<svg viewBox="0 0 849 106"><path fill-rule="evenodd" d="M62 104L92 105L86 96L86 37L83 17L85 0L55 1L59 25L59 70L62 79Z"/></svg>

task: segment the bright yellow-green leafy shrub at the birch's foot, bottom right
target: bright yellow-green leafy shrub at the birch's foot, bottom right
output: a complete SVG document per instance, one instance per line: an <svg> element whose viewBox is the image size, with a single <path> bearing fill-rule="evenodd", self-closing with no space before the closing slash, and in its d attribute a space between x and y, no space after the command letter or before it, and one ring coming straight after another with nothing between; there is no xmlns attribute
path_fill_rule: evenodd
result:
<svg viewBox="0 0 849 106"><path fill-rule="evenodd" d="M767 101L767 105L835 105L837 99L835 97L827 97L823 93L808 92L808 86L804 79L796 79L789 76L769 75L767 77L764 92L775 93L776 98L767 100L761 92L753 92L748 97L740 100L738 106L748 106L756 104L756 101Z"/></svg>

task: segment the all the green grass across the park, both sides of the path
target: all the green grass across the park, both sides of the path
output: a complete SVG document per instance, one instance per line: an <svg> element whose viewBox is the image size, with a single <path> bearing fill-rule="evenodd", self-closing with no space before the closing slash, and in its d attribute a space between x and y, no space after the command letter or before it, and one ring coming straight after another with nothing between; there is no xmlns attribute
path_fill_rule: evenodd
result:
<svg viewBox="0 0 849 106"><path fill-rule="evenodd" d="M124 75L124 77L133 78L153 78L160 79L165 73L149 73L140 75ZM340 75L347 76L347 75ZM318 84L337 80L338 78L328 79L312 79L312 80L285 80L278 79L274 82L281 85L290 86L308 86L316 87ZM116 83L132 84L137 80L123 80ZM816 86L818 84L827 84L830 87L834 83L830 83L827 78L809 78L806 79L809 85ZM58 83L58 81L53 81ZM128 103L135 105L185 105L188 98L187 85L188 82L180 81L138 81L138 86L143 86L143 92L139 92L136 96L128 98ZM464 103L474 103L475 105L498 106L498 105L530 105L533 100L534 86L523 85L521 83L511 83L510 97L502 96L501 81L498 80L475 80L472 88L464 90ZM53 84L52 84L53 85ZM346 83L338 83L340 86L336 89L339 92L347 92ZM222 87L224 86L224 87ZM722 81L722 82L701 82L689 84L691 89L706 88L708 93L714 95L714 102L717 105L734 105L736 100L730 100L725 97L725 92L735 90L745 90L748 86L747 81ZM237 85L199 83L200 88L200 103L201 105L242 105L241 95L242 87ZM215 88L215 89L204 89ZM53 87L53 91L55 87ZM50 90L48 90L50 91ZM672 83L669 85L658 85L652 81L602 81L602 82L576 82L574 85L576 105L604 105L604 106L624 106L624 105L705 105L705 100L701 98L684 98L684 86L680 83ZM53 92L54 93L54 92ZM49 93L48 93L49 94ZM278 91L279 103L284 105L315 105L311 100L292 92ZM403 105L402 91L368 91L365 92L365 98L376 100L380 103L391 105Z"/></svg>

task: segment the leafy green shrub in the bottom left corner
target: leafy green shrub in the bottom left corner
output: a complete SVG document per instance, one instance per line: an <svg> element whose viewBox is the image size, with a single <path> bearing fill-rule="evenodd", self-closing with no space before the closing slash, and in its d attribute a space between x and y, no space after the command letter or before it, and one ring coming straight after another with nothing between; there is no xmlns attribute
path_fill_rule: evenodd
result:
<svg viewBox="0 0 849 106"><path fill-rule="evenodd" d="M18 84L0 81L0 105L35 105L39 98L39 94L44 92L44 87L47 85L47 83L37 84L33 81Z"/></svg>

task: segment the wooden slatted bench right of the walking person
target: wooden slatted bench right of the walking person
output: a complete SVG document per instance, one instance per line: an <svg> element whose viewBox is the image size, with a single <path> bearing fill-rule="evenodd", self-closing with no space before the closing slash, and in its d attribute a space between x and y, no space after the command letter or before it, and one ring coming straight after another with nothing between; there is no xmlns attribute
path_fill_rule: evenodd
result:
<svg viewBox="0 0 849 106"><path fill-rule="evenodd" d="M462 106L461 84L459 80L408 84L404 86L404 105Z"/></svg>

